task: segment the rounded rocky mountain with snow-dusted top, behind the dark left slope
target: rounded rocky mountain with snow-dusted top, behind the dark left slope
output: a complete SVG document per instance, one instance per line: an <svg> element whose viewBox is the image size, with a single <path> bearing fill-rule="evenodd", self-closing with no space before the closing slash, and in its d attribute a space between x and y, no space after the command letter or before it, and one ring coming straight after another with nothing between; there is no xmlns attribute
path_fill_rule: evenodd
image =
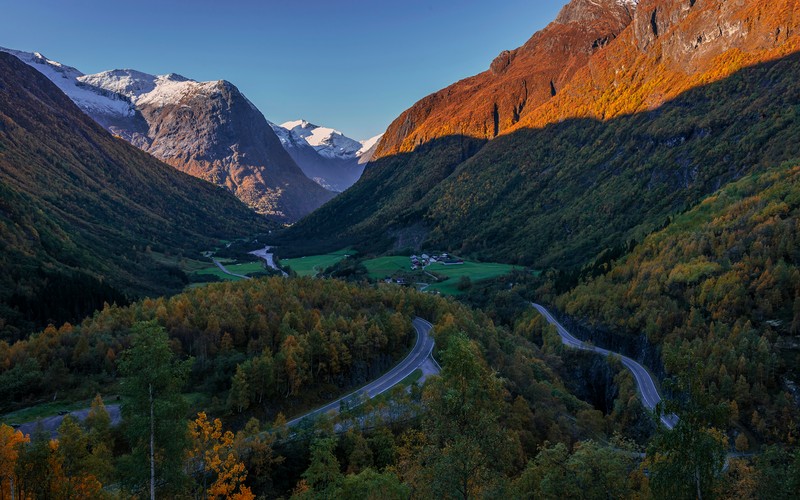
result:
<svg viewBox="0 0 800 500"><path fill-rule="evenodd" d="M311 182L260 111L230 82L134 70L83 75L10 51L114 134L173 167L224 186L256 212L294 221L333 194Z"/></svg>

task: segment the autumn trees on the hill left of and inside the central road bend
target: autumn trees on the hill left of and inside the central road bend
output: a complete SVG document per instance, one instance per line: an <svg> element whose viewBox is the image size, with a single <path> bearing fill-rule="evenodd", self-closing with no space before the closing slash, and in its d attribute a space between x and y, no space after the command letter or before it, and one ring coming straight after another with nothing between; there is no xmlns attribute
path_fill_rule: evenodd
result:
<svg viewBox="0 0 800 500"><path fill-rule="evenodd" d="M110 387L131 327L155 320L176 353L195 359L196 392L211 399L233 387L235 396L217 406L241 411L260 403L274 416L274 401L314 404L376 377L404 355L414 338L407 301L393 288L274 278L108 306L79 326L0 341L0 402L10 409L55 393L90 397Z"/></svg>

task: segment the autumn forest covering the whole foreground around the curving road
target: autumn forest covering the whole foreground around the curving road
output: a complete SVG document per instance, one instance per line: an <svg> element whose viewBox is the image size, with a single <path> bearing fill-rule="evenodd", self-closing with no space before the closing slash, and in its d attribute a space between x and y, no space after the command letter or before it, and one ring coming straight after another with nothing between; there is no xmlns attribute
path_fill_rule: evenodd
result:
<svg viewBox="0 0 800 500"><path fill-rule="evenodd" d="M414 316L434 322L439 376L287 427L391 366ZM726 452L746 449L729 407L688 398L665 409L681 416L678 428L656 427L621 365L566 349L533 312L508 326L390 285L211 284L2 342L0 367L7 405L54 390L98 394L88 418L65 418L57 437L0 427L2 498L151 488L173 498L661 498L685 494L674 491L684 481L707 497L755 496L800 467L791 448L765 445L723 470ZM676 392L703 394L690 385ZM99 394L119 395L119 426Z"/></svg>

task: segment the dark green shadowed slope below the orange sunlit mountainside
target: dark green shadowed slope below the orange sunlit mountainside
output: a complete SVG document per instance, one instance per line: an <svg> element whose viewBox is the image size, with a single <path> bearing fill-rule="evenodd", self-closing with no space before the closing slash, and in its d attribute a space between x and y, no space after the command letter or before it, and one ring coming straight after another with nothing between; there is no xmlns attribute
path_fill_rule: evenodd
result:
<svg viewBox="0 0 800 500"><path fill-rule="evenodd" d="M800 156L799 62L748 67L608 121L429 141L370 163L273 243L284 256L441 249L570 272L597 259L602 272L721 186Z"/></svg>

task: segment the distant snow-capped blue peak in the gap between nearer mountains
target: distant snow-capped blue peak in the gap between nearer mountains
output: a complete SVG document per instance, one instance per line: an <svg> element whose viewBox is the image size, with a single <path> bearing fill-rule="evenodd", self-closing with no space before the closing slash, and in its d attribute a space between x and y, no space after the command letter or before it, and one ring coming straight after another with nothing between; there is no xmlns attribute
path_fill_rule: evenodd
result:
<svg viewBox="0 0 800 500"><path fill-rule="evenodd" d="M303 173L320 186L341 192L352 186L364 171L381 136L356 141L338 130L305 120L270 123L281 144Z"/></svg>

